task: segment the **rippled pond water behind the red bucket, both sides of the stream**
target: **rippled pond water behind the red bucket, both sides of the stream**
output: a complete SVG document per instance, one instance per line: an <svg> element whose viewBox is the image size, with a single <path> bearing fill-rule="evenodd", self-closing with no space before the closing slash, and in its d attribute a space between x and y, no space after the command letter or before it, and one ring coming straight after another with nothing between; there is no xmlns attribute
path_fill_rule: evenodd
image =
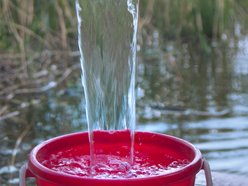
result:
<svg viewBox="0 0 248 186"><path fill-rule="evenodd" d="M154 43L139 52L136 129L188 140L213 171L248 176L248 38L211 54ZM82 97L78 69L65 87L26 97L32 106L0 121L0 185L18 184L19 168L41 141L87 130Z"/></svg>

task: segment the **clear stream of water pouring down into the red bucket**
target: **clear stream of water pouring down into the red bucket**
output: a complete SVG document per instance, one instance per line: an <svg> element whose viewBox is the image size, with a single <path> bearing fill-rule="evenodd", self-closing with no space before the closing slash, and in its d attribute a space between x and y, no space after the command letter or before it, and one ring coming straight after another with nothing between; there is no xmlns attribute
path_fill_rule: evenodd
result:
<svg viewBox="0 0 248 186"><path fill-rule="evenodd" d="M129 131L133 161L138 0L77 0L78 45L91 165L94 131Z"/></svg>

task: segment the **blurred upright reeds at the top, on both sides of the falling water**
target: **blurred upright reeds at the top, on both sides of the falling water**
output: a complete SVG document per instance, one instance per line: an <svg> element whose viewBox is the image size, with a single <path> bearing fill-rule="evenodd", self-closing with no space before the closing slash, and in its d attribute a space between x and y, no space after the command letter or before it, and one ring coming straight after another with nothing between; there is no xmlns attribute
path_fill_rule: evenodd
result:
<svg viewBox="0 0 248 186"><path fill-rule="evenodd" d="M2 0L0 2L1 54L15 52L27 57L32 52L75 49L74 1ZM218 40L234 35L238 17L247 13L243 0L141 0L141 33L159 30L165 39L184 42ZM246 19L243 23L247 25ZM206 43L204 43L206 42Z"/></svg>

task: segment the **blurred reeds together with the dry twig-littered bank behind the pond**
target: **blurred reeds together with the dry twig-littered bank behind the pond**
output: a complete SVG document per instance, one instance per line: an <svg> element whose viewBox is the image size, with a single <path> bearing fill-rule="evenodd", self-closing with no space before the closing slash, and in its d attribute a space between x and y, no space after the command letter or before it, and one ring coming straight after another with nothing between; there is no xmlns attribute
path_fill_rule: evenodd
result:
<svg viewBox="0 0 248 186"><path fill-rule="evenodd" d="M58 86L79 69L74 4L0 1L1 103ZM246 32L247 10L244 0L140 0L139 45L145 52L159 37L160 48L173 41L208 55Z"/></svg>

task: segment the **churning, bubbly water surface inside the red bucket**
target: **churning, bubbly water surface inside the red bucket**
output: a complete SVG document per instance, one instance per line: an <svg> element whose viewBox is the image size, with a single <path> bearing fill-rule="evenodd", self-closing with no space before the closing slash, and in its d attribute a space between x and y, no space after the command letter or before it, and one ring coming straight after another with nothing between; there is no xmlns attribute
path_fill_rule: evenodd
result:
<svg viewBox="0 0 248 186"><path fill-rule="evenodd" d="M169 174L189 163L188 160L177 160L171 157L163 157L158 161L145 152L135 151L132 166L123 161L121 156L103 154L97 156L95 159L97 163L90 168L90 156L75 153L75 151L84 151L84 148L84 146L78 146L76 149L53 153L49 158L42 160L42 164L56 172L85 178L90 176L98 179L123 179ZM70 153L74 156L68 156Z"/></svg>

